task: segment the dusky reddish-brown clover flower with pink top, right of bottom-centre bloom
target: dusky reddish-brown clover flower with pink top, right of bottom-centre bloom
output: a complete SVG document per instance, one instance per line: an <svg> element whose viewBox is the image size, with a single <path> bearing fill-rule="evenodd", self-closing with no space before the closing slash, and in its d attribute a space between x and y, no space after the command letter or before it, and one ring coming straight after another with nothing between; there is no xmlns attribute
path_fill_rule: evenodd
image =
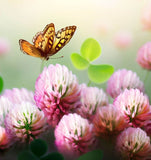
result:
<svg viewBox="0 0 151 160"><path fill-rule="evenodd" d="M129 125L119 109L111 104L109 106L97 108L93 124L95 135L97 137L106 138L110 136L113 138Z"/></svg>

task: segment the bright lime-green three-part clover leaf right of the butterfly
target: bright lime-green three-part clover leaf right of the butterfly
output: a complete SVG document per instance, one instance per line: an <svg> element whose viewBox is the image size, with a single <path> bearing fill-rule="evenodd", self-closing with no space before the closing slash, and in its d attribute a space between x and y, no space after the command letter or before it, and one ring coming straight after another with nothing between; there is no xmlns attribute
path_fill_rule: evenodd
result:
<svg viewBox="0 0 151 160"><path fill-rule="evenodd" d="M71 61L75 68L79 70L88 69L88 77L94 83L103 83L107 81L114 72L111 65L93 65L92 61L101 55L101 47L99 43L88 38L81 46L81 53L72 53Z"/></svg>

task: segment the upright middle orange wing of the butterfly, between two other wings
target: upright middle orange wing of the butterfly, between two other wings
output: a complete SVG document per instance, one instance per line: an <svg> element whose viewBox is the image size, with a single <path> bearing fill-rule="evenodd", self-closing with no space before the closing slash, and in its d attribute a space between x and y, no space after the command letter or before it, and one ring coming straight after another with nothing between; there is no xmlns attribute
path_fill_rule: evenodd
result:
<svg viewBox="0 0 151 160"><path fill-rule="evenodd" d="M47 57L47 53L50 51L55 36L55 27L54 24L48 24L43 32L38 32L33 38L34 46L40 49L43 53L45 53L45 57Z"/></svg>

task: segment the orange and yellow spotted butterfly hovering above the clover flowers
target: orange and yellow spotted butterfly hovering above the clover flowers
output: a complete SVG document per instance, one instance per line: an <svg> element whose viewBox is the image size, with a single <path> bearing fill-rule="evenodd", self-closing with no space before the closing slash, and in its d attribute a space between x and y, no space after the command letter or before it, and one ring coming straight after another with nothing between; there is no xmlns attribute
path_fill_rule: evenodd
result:
<svg viewBox="0 0 151 160"><path fill-rule="evenodd" d="M76 26L68 26L55 33L55 26L50 23L33 37L33 44L20 39L20 49L30 56L48 60L70 41L75 30Z"/></svg>

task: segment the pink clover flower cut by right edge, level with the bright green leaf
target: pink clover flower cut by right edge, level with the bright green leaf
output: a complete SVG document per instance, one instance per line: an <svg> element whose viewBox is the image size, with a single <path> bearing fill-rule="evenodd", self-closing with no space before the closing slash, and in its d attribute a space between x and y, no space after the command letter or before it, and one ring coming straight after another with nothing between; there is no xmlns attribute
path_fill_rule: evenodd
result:
<svg viewBox="0 0 151 160"><path fill-rule="evenodd" d="M151 70L151 42L145 43L138 50L136 61L142 68Z"/></svg>

